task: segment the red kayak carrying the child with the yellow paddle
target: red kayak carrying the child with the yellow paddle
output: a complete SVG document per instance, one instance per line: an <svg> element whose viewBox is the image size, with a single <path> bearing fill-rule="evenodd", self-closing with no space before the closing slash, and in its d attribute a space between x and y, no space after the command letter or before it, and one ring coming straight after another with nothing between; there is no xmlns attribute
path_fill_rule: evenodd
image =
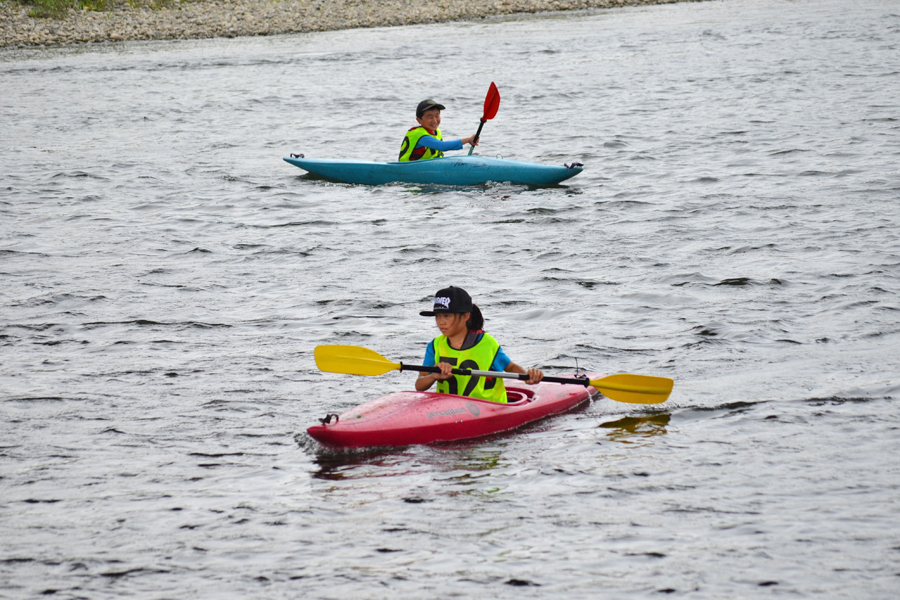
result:
<svg viewBox="0 0 900 600"><path fill-rule="evenodd" d="M591 379L600 377L589 375ZM408 446L500 433L578 406L593 387L507 384L507 404L436 392L397 392L329 415L307 432L329 446Z"/></svg>

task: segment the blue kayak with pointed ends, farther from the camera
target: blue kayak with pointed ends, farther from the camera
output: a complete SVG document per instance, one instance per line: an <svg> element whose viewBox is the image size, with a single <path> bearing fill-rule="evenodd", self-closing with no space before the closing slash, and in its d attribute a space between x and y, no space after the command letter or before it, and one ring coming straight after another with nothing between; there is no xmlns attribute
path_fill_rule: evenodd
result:
<svg viewBox="0 0 900 600"><path fill-rule="evenodd" d="M422 183L432 185L481 185L488 181L508 181L523 185L556 185L578 175L582 166L554 167L537 163L484 158L481 156L445 156L411 162L336 160L285 157L287 162L314 175L365 185L385 183Z"/></svg>

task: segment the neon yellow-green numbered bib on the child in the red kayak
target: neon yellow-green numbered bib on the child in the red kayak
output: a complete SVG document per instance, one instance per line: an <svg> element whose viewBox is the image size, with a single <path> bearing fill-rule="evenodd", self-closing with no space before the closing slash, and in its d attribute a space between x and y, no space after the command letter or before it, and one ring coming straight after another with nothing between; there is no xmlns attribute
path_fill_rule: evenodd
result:
<svg viewBox="0 0 900 600"><path fill-rule="evenodd" d="M486 333L481 336L477 344L466 350L451 348L445 335L434 338L435 365L445 362L457 369L490 371L499 350L500 344L497 340ZM503 385L503 380L496 377L454 375L446 381L438 381L437 391L441 394L456 394L506 403L506 387Z"/></svg>

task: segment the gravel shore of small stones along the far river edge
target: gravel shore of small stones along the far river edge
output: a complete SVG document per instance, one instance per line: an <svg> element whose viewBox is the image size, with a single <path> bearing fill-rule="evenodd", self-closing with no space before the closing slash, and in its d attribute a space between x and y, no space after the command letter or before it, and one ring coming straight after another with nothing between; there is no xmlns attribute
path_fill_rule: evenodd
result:
<svg viewBox="0 0 900 600"><path fill-rule="evenodd" d="M684 0L201 0L156 10L120 2L112 11L37 19L28 16L30 6L2 0L0 47L273 35L678 1Z"/></svg>

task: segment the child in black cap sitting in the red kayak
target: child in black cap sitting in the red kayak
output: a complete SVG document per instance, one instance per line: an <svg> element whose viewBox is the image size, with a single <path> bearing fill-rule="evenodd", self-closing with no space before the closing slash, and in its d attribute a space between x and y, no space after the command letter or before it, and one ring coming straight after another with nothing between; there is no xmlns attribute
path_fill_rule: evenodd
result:
<svg viewBox="0 0 900 600"><path fill-rule="evenodd" d="M529 384L544 378L540 370L526 371L512 362L497 340L482 331L484 317L466 290L453 286L439 290L434 295L434 308L419 314L434 317L441 330L441 335L428 344L422 364L440 367L441 372L419 373L417 391L424 392L437 382L437 391L442 394L458 394L505 404L506 387L502 379L453 375L451 371L459 368L525 373L528 375L526 383Z"/></svg>

